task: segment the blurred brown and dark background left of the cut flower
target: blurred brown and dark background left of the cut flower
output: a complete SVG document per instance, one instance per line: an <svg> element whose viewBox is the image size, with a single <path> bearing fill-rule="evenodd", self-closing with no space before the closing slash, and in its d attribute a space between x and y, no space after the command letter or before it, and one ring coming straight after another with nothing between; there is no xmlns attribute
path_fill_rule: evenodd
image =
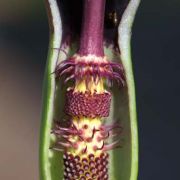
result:
<svg viewBox="0 0 180 180"><path fill-rule="evenodd" d="M38 180L41 91L48 35L42 0L0 1L2 180Z"/></svg>

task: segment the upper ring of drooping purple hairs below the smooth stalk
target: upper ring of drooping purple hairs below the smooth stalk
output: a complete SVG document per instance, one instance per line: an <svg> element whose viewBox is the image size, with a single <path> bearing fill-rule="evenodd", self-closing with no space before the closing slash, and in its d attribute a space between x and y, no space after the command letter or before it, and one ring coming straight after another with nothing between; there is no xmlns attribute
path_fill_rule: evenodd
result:
<svg viewBox="0 0 180 180"><path fill-rule="evenodd" d="M68 59L57 65L56 77L65 78L64 82L69 80L86 80L86 84L93 77L95 83L100 78L106 78L110 82L115 80L119 85L125 85L124 70L120 63L116 62L87 62L83 59Z"/></svg>

